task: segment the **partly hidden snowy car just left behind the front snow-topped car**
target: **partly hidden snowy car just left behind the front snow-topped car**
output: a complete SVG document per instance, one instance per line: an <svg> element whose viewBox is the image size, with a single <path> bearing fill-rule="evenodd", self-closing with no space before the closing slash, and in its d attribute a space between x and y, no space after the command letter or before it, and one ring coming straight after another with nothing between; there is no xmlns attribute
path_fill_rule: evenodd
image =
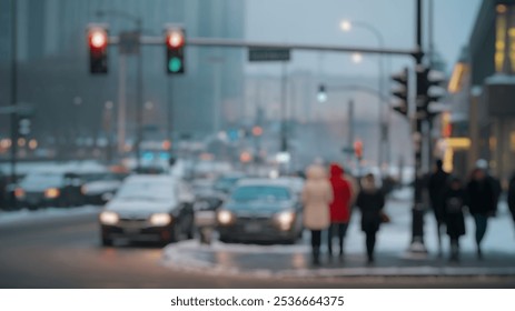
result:
<svg viewBox="0 0 515 311"><path fill-rule="evenodd" d="M98 173L81 177L80 188L86 204L103 205L115 197L127 173Z"/></svg>

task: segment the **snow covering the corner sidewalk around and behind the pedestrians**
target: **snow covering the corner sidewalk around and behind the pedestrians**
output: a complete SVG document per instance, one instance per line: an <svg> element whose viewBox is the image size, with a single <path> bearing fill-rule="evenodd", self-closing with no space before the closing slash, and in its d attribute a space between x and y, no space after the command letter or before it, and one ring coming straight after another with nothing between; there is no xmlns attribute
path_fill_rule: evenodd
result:
<svg viewBox="0 0 515 311"><path fill-rule="evenodd" d="M392 222L382 225L377 235L376 252L380 254L394 254L397 259L407 259L407 249L410 243L410 198L413 190L403 189L395 191L388 201L386 212ZM436 222L433 213L427 212L424 225L425 245L429 253L435 255L438 249L436 235ZM472 217L466 217L467 234L460 239L463 253L475 253L474 222ZM483 240L484 253L515 253L514 223L505 202L499 204L499 212L496 218L488 222L488 229ZM449 240L444 233L443 250L449 253ZM351 260L364 260L365 234L360 231L359 214L353 213L351 221L345 240L346 257ZM325 238L323 237L323 244ZM326 250L323 247L321 252ZM258 278L287 277L338 277L338 275L481 275L481 274L515 274L515 267L433 267L428 261L422 267L347 267L347 268L320 268L309 269L306 260L309 259L309 233L305 231L303 242L294 245L258 245L258 244L230 244L221 243L214 239L211 245L200 244L197 240L189 240L169 244L164 250L162 263L172 269L187 271L202 271L202 273L238 275L251 274ZM245 269L238 264L230 264L231 260L239 255L263 255L264 258L291 254L291 267L289 269ZM412 258L413 259L413 258ZM296 261L298 261L296 263ZM430 262L430 259L429 259Z"/></svg>

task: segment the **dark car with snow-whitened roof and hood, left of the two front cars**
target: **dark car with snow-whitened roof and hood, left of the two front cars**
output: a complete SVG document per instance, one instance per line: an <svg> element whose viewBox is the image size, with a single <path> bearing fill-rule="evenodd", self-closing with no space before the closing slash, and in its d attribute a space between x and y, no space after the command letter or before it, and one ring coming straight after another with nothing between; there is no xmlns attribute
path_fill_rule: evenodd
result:
<svg viewBox="0 0 515 311"><path fill-rule="evenodd" d="M102 245L115 240L167 244L191 239L194 195L170 175L129 175L99 214Z"/></svg>

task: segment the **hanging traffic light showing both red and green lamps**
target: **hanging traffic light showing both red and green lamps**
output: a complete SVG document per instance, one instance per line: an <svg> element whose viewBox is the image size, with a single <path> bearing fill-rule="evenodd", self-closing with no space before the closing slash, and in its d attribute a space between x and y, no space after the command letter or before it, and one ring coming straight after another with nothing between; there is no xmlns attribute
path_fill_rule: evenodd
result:
<svg viewBox="0 0 515 311"><path fill-rule="evenodd" d="M165 43L167 49L166 68L168 74L185 73L185 43L184 28L170 27L166 30Z"/></svg>

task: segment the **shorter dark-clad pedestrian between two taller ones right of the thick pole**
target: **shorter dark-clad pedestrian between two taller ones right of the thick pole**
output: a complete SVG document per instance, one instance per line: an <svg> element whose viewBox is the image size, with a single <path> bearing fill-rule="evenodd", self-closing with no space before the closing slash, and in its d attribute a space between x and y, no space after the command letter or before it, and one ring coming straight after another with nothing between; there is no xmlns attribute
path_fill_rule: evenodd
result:
<svg viewBox="0 0 515 311"><path fill-rule="evenodd" d="M466 194L462 181L457 177L450 178L442 194L443 219L450 240L450 261L459 260L459 237L465 235L465 202Z"/></svg>

